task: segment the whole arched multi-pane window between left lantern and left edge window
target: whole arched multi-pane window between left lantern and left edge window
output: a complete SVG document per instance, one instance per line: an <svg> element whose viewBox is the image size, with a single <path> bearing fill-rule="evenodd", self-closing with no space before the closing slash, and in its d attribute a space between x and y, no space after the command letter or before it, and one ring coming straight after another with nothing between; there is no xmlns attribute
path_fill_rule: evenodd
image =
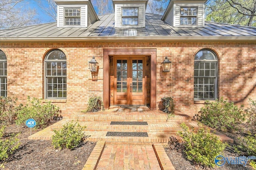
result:
<svg viewBox="0 0 256 170"><path fill-rule="evenodd" d="M67 61L59 49L47 53L45 60L45 98L66 99Z"/></svg>

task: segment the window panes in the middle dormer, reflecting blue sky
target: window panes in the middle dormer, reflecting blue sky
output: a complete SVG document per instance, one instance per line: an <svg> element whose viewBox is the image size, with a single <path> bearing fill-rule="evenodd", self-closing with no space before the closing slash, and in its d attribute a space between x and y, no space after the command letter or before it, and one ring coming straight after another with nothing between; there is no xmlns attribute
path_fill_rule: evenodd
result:
<svg viewBox="0 0 256 170"><path fill-rule="evenodd" d="M122 8L122 25L138 25L138 8Z"/></svg>

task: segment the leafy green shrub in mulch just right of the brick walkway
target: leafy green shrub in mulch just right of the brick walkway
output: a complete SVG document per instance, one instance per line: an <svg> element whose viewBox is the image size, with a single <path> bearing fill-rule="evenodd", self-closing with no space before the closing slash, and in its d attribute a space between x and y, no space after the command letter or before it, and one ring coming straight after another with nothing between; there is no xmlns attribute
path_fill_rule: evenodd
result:
<svg viewBox="0 0 256 170"><path fill-rule="evenodd" d="M202 166L215 166L214 158L222 153L227 144L222 143L217 136L202 127L197 133L189 132L184 123L180 127L183 131L179 131L178 135L183 139L184 152L188 160Z"/></svg>

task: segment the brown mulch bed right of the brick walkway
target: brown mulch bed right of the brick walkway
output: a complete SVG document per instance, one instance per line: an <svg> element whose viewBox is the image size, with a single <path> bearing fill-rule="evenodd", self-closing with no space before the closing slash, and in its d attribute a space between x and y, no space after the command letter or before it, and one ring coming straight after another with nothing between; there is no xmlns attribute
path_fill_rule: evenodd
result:
<svg viewBox="0 0 256 170"><path fill-rule="evenodd" d="M237 144L238 137L245 136L244 133L245 126L241 125L241 128L237 131L232 132L221 132L225 134L226 136L234 139L234 144L229 144L230 146L226 147L226 149L223 151L222 155L224 157L239 157L244 156L244 153L236 154L233 150L233 146ZM196 164L193 164L193 162L186 159L185 153L182 151L182 144L179 146L168 146L165 148L165 151L170 158L174 168L176 170L252 170L252 167L247 162L246 166L243 165L232 165L228 164L227 162L223 166L215 166L214 168L208 168L208 167L202 167Z"/></svg>

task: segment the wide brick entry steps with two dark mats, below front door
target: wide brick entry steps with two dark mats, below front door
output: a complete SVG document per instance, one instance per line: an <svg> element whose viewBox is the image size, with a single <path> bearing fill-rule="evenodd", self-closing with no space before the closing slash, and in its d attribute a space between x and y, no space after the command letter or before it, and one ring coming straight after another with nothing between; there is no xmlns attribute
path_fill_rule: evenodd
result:
<svg viewBox="0 0 256 170"><path fill-rule="evenodd" d="M119 108L119 107L118 107ZM116 111L118 110L118 111ZM176 111L174 117L166 122L167 114L162 111L149 111L148 108L143 108L141 111L131 111L130 109L122 110L109 109L96 113L76 113L70 119L65 118L51 125L50 127L33 134L29 139L50 140L54 134L54 129L60 129L67 122L78 122L80 125L86 126L84 129L86 135L90 135L87 140L98 141L105 140L108 144L153 144L162 143L168 144L170 136L175 136L181 142L182 139L176 135L180 128L180 124L184 122L192 132L197 132L198 125L196 120L192 119L184 113ZM111 121L146 121L148 125L110 125ZM203 126L205 129L209 128ZM106 136L107 132L147 132L148 137L129 137L129 136ZM211 129L211 132L214 132ZM231 138L215 133L223 142L233 142Z"/></svg>

